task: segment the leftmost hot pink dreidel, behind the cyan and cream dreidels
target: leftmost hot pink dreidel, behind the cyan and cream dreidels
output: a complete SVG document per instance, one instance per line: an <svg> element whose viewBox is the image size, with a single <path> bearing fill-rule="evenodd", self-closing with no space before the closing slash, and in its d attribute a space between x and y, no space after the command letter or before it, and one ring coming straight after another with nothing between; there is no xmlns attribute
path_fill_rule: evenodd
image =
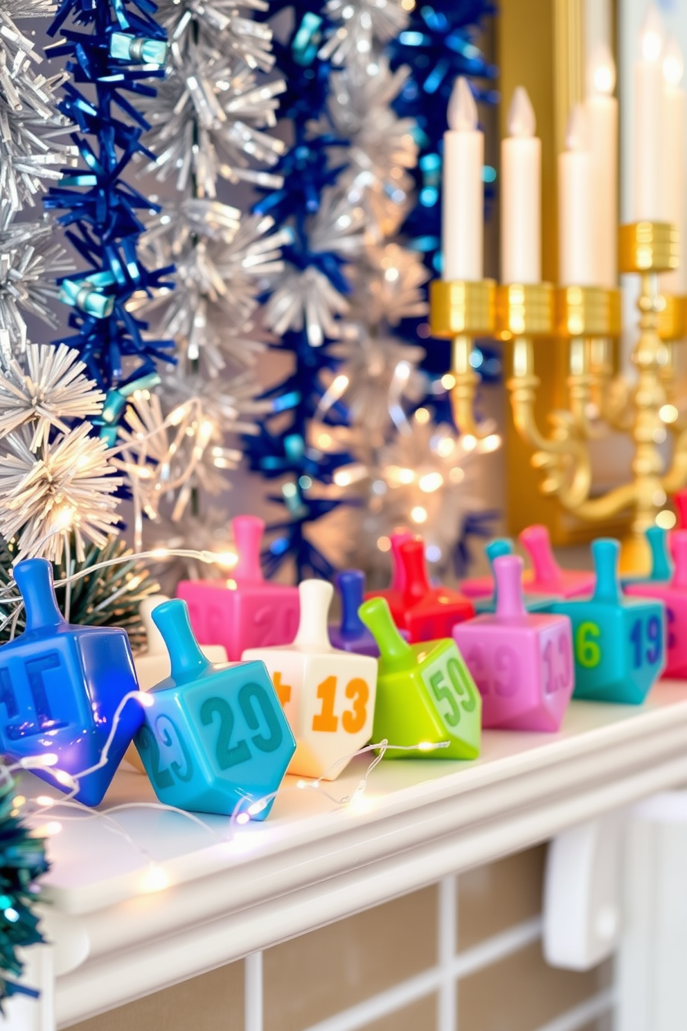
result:
<svg viewBox="0 0 687 1031"><path fill-rule="evenodd" d="M181 580L176 595L188 605L191 625L200 644L221 644L232 661L247 647L284 644L299 621L295 587L267 584L260 566L265 523L253 516L232 522L239 561L227 583Z"/></svg>

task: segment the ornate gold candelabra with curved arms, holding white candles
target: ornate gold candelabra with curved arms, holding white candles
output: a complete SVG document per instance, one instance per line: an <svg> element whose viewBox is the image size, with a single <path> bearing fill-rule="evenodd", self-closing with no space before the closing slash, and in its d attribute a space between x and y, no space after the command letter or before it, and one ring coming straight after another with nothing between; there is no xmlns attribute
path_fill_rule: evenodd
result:
<svg viewBox="0 0 687 1031"><path fill-rule="evenodd" d="M680 395L676 341L685 334L687 300L665 298L658 289L658 273L676 268L678 260L674 226L640 222L621 227L620 271L642 277L634 383L614 374L613 339L621 330L617 290L547 282L495 287L488 279L432 284L432 333L453 340L452 403L459 431L479 436L473 414L479 381L471 363L474 340L494 333L512 339L513 419L535 450L531 462L543 473L542 492L591 522L631 512L638 536L655 523L666 496L687 483L687 421L674 403ZM556 336L569 342L569 405L550 412L552 431L546 436L535 418L541 387L535 352ZM612 431L633 440L631 478L594 496L590 443ZM662 445L668 431L675 443L666 469Z"/></svg>

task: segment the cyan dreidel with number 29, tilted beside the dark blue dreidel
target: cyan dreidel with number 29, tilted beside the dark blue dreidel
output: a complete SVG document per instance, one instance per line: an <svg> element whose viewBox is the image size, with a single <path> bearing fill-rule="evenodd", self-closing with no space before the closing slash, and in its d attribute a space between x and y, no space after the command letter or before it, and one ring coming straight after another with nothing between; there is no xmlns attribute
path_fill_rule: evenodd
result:
<svg viewBox="0 0 687 1031"><path fill-rule="evenodd" d="M166 805L220 816L243 803L264 820L273 799L262 802L279 788L296 751L265 665L213 666L180 599L159 605L152 619L171 675L149 692L136 747L156 795Z"/></svg>

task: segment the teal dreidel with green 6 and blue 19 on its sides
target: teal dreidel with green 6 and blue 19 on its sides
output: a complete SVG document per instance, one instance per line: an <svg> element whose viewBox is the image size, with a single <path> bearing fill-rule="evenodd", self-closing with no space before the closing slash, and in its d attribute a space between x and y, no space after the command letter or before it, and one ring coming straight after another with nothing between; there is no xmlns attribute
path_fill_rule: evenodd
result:
<svg viewBox="0 0 687 1031"><path fill-rule="evenodd" d="M659 601L623 597L617 540L594 540L591 552L596 570L593 596L551 606L573 624L573 697L637 705L665 666L665 610Z"/></svg>

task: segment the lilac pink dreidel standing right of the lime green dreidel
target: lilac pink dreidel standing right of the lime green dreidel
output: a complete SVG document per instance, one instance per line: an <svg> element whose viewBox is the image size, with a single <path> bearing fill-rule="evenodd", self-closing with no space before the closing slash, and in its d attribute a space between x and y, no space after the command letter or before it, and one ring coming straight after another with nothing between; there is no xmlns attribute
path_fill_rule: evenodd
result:
<svg viewBox="0 0 687 1031"><path fill-rule="evenodd" d="M453 638L482 695L483 727L556 731L575 688L571 621L525 610L522 566L515 555L494 561L495 613L458 624Z"/></svg>

